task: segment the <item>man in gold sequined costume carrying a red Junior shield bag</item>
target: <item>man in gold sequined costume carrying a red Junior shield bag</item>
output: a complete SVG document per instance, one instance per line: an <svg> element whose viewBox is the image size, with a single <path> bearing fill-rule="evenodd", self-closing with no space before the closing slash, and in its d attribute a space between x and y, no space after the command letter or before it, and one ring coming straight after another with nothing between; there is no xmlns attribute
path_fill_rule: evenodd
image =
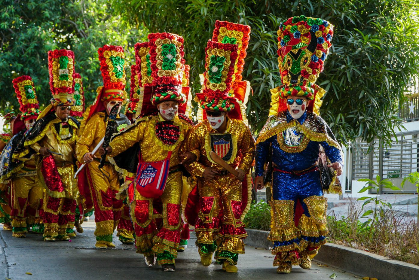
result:
<svg viewBox="0 0 419 280"><path fill-rule="evenodd" d="M163 271L174 271L181 230L180 149L193 127L189 118L178 113L179 104L185 101L181 92L184 40L171 33L151 33L148 39L148 44L136 44L136 58L138 66L149 55L153 90L145 84L143 95L151 95L155 112L144 114L143 109L150 106L141 108L143 117L114 136L106 150L117 170L136 173L128 193L137 253L144 254L148 266L157 258ZM153 208L158 201L162 209ZM163 219L160 229L155 214Z"/></svg>

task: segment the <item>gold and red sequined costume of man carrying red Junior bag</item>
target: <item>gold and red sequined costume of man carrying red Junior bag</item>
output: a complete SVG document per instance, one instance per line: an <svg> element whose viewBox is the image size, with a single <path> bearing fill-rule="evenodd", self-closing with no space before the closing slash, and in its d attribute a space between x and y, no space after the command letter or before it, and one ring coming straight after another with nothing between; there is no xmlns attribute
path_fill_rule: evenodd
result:
<svg viewBox="0 0 419 280"><path fill-rule="evenodd" d="M136 235L137 253L148 256L157 254L158 265L174 264L177 257L177 249L180 241L181 230L181 194L182 172L178 170L182 153L181 148L189 135L191 123L175 116L173 126L180 128L180 134L174 144L165 144L165 140L159 138L156 129L159 123L164 122L160 116L150 116L137 119L133 128L117 135L111 141L112 152L109 156L114 157L124 152L137 142L140 144L141 156L144 162L156 162L166 159L171 151L170 170L166 187L160 197L163 212L155 213L153 198L146 198L137 191L130 202L130 213L134 223ZM137 155L138 156L138 155ZM163 218L163 226L158 229L155 218Z"/></svg>

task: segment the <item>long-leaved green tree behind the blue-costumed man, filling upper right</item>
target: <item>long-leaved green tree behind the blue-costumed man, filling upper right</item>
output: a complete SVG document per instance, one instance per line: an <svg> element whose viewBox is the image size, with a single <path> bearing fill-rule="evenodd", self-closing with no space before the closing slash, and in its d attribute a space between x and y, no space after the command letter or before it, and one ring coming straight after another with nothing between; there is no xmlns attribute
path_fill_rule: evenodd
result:
<svg viewBox="0 0 419 280"><path fill-rule="evenodd" d="M114 0L126 26L177 33L185 39L186 62L198 92L204 49L216 20L251 26L243 77L254 95L248 118L257 133L268 115L269 89L280 84L279 24L291 16L323 18L335 26L333 47L317 83L328 93L322 116L344 144L357 137L391 142L403 93L418 77L418 4L409 0L256 1Z"/></svg>

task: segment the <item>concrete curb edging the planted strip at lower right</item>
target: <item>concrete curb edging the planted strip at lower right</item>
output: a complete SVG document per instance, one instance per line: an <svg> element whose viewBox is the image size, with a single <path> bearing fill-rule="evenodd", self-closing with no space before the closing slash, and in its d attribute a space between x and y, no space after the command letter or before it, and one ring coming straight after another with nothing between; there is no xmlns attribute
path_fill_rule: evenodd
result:
<svg viewBox="0 0 419 280"><path fill-rule="evenodd" d="M269 231L257 229L246 229L246 231L249 235L244 239L246 245L266 249L272 247L272 242L266 240ZM314 260L355 275L375 277L380 280L419 279L418 265L333 243L323 245Z"/></svg>

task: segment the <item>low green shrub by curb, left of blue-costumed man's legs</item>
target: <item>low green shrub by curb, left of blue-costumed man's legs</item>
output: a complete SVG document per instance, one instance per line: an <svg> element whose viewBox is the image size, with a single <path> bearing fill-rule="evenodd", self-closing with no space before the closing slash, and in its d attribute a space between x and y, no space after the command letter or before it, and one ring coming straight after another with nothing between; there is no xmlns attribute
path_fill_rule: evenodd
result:
<svg viewBox="0 0 419 280"><path fill-rule="evenodd" d="M249 229L269 230L271 225L271 207L264 201L252 203L243 222Z"/></svg>

